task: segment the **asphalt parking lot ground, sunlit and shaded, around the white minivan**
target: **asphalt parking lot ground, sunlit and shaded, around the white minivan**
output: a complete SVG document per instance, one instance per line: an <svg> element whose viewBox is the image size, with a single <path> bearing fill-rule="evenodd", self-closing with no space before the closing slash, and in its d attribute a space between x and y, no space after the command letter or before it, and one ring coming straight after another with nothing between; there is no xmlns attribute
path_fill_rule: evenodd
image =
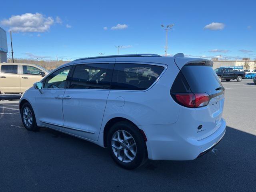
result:
<svg viewBox="0 0 256 192"><path fill-rule="evenodd" d="M255 191L256 85L222 81L226 135L193 161L118 167L106 149L41 128L27 131L18 100L0 101L0 191Z"/></svg>

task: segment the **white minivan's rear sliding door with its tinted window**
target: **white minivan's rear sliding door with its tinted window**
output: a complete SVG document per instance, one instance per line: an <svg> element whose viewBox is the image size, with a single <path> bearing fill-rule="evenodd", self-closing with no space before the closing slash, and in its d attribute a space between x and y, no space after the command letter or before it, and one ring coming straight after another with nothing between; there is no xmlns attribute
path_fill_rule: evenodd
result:
<svg viewBox="0 0 256 192"><path fill-rule="evenodd" d="M74 65L65 91L63 115L65 131L97 141L104 115L114 62Z"/></svg>

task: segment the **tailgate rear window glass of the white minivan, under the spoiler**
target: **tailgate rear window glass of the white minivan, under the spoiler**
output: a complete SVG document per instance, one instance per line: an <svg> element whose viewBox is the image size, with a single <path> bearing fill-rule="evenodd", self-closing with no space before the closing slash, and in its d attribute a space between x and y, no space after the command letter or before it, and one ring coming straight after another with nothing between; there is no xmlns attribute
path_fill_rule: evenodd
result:
<svg viewBox="0 0 256 192"><path fill-rule="evenodd" d="M206 92L215 94L220 92L216 88L222 87L218 76L210 66L184 66L181 69L192 92Z"/></svg>

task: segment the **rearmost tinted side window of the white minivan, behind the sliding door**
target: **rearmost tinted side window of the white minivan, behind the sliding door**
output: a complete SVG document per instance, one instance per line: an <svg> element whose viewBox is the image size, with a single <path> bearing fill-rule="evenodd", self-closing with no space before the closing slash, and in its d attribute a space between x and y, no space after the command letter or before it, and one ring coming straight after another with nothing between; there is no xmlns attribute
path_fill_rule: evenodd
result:
<svg viewBox="0 0 256 192"><path fill-rule="evenodd" d="M163 70L162 66L117 63L114 66L111 89L146 90Z"/></svg>

